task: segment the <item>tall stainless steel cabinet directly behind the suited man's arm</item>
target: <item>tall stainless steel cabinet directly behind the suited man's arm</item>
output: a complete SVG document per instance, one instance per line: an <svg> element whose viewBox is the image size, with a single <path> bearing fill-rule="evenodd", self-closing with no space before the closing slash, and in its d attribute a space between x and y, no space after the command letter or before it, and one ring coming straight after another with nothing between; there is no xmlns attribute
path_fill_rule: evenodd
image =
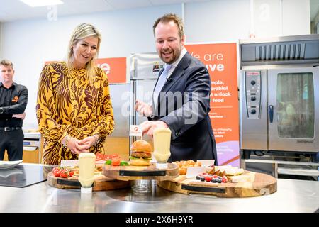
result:
<svg viewBox="0 0 319 227"><path fill-rule="evenodd" d="M138 125L147 118L135 111L135 101L138 99L147 104L152 104L152 93L159 75L164 67L157 52L135 53L130 56L130 125ZM145 135L144 140L151 138ZM130 144L136 140L130 138Z"/></svg>

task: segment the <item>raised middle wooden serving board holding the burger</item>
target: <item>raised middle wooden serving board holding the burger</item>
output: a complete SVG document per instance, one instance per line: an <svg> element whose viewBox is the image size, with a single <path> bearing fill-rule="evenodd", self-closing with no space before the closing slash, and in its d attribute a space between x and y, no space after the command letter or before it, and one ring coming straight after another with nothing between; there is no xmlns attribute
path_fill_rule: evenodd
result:
<svg viewBox="0 0 319 227"><path fill-rule="evenodd" d="M155 163L152 163L149 166L103 165L103 175L123 181L138 179L156 179L158 181L162 181L178 177L179 167L173 163L167 163L167 168L165 169L158 169Z"/></svg>

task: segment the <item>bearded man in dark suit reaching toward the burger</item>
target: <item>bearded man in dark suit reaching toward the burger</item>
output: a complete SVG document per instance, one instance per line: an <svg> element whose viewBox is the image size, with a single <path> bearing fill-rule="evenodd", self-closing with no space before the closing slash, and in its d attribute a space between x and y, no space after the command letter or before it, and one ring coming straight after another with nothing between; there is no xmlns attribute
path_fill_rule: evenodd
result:
<svg viewBox="0 0 319 227"><path fill-rule="evenodd" d="M158 18L153 26L156 49L165 62L153 92L152 106L136 101L135 109L149 121L143 134L156 128L172 131L171 157L179 160L215 159L216 142L209 118L211 79L202 62L184 48L184 26L175 14Z"/></svg>

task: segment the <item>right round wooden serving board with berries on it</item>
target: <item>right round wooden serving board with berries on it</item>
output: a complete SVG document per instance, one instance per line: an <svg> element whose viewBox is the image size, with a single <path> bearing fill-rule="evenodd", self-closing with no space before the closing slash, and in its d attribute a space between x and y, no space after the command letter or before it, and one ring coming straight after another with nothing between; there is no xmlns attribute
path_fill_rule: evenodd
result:
<svg viewBox="0 0 319 227"><path fill-rule="evenodd" d="M263 196L277 190L276 178L270 175L245 171L242 175L234 176L235 178L244 179L245 182L201 182L195 178L186 179L186 175L180 175L169 181L157 182L157 185L172 192L210 194L229 198Z"/></svg>

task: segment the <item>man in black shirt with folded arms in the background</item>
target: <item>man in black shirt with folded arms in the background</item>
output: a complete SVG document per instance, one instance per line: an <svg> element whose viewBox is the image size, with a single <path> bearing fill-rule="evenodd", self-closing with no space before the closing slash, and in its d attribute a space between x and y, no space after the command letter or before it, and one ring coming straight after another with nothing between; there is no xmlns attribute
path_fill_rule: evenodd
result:
<svg viewBox="0 0 319 227"><path fill-rule="evenodd" d="M28 103L28 89L13 82L13 64L9 60L0 62L0 160L4 151L10 161L22 160L22 121Z"/></svg>

